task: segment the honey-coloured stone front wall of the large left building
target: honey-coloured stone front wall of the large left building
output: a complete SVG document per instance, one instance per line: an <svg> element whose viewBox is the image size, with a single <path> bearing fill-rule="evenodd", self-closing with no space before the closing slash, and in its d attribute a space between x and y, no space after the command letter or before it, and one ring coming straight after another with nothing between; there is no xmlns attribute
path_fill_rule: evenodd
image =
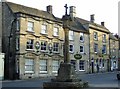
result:
<svg viewBox="0 0 120 89"><path fill-rule="evenodd" d="M19 38L19 51L16 55L16 59L19 61L19 74L20 78L32 78L32 77L40 77L40 76L53 76L56 75L57 71L54 69L55 67L58 69L59 64L63 61L63 40L64 40L64 32L62 28L62 24L59 22L50 21L43 18L37 18L35 20L33 17L26 16L27 18L20 17L19 25L20 29L16 33ZM27 24L31 21L34 23L34 32L27 31ZM47 33L42 33L42 25L45 24L47 26ZM58 36L54 36L53 29L57 27L59 29ZM33 49L27 49L27 41L28 39L33 39ZM36 42L39 42L40 48L36 49ZM47 42L46 50L41 50L42 42ZM50 53L49 44L55 45L54 43L58 43L58 51L52 50ZM53 48L54 49L54 48ZM34 70L27 71L25 69L26 59L34 60ZM41 69L42 61L45 62L43 67L47 67L45 70ZM58 65L54 62L58 63Z"/></svg>

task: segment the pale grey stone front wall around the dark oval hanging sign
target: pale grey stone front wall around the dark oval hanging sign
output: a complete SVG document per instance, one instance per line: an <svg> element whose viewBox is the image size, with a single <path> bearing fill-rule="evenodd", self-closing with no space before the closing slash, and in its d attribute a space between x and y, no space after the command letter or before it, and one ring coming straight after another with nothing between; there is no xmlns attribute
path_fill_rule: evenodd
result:
<svg viewBox="0 0 120 89"><path fill-rule="evenodd" d="M83 41L80 41L80 33L83 34ZM88 73L89 72L89 35L83 32L74 32L74 40L70 41L70 45L74 45L74 51L70 52L70 60L75 63L75 68L77 72ZM83 47L83 51L80 52L80 47ZM82 49L81 49L82 50ZM80 53L82 58L76 60L74 55Z"/></svg>

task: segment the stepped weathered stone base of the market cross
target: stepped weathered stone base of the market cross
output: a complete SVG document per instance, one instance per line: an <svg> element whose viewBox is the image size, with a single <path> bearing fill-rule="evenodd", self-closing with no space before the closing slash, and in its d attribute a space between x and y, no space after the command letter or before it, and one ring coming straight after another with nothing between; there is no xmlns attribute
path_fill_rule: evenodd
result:
<svg viewBox="0 0 120 89"><path fill-rule="evenodd" d="M43 83L43 89L83 89L85 87L88 87L88 83L78 79L73 65L68 63L60 64L58 76L55 79Z"/></svg>

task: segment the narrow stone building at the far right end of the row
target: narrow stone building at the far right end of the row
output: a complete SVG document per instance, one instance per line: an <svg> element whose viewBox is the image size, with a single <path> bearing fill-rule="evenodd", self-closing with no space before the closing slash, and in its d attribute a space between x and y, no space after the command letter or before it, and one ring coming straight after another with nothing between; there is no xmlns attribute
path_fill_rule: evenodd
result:
<svg viewBox="0 0 120 89"><path fill-rule="evenodd" d="M112 33L110 34L110 60L111 71L118 69L119 41Z"/></svg>

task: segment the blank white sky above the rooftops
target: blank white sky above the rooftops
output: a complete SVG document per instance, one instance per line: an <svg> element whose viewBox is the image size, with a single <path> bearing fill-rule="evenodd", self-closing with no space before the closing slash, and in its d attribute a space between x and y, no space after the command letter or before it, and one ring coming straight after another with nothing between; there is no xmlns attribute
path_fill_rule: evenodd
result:
<svg viewBox="0 0 120 89"><path fill-rule="evenodd" d="M64 5L76 7L76 16L90 20L95 14L95 23L105 22L111 33L118 34L118 2L119 0L7 0L17 4L46 11L46 6L53 6L53 14L62 18L65 14ZM119 6L120 7L120 6ZM68 10L69 13L69 10ZM119 34L120 35L120 34Z"/></svg>

